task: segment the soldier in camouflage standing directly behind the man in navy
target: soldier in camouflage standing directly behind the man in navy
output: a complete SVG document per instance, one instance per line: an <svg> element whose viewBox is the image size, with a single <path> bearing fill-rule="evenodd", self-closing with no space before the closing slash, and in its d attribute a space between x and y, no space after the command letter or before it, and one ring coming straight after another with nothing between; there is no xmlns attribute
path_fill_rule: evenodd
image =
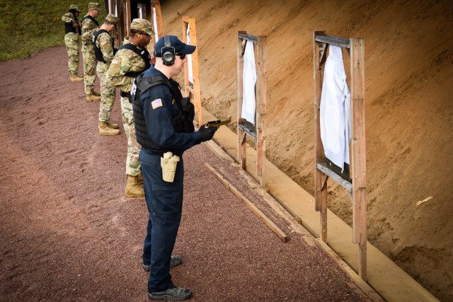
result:
<svg viewBox="0 0 453 302"><path fill-rule="evenodd" d="M120 88L122 124L127 137L127 159L125 188L126 197L144 197L143 175L140 169L140 150L135 136L134 115L130 90L134 79L151 66L151 55L146 46L154 35L151 22L134 19L130 24L130 37L125 37L122 46L107 71L107 82Z"/></svg>

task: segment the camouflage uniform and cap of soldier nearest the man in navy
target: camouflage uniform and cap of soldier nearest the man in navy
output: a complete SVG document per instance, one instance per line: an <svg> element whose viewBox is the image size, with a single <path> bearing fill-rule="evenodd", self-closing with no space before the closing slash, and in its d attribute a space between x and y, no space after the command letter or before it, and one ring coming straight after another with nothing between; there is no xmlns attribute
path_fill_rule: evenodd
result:
<svg viewBox="0 0 453 302"><path fill-rule="evenodd" d="M146 28L146 30L145 30ZM144 19L134 19L131 29L139 29L152 34L151 23ZM130 44L128 37L125 38L123 45ZM132 43L131 43L132 44ZM140 47L139 50L141 49ZM133 50L122 49L115 54L110 69L107 73L107 81L110 85L120 88L122 92L128 93L134 83L134 77L126 76L127 73L142 72L145 70L145 62ZM137 176L140 170L140 150L142 146L137 143L135 136L134 115L132 112L132 101L126 97L121 97L122 124L127 136L127 159L126 174Z"/></svg>

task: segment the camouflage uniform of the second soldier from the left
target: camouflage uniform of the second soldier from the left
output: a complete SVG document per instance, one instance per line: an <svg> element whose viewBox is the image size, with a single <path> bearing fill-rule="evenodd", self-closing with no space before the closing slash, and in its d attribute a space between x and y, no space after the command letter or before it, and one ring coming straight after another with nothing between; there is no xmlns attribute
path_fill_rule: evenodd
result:
<svg viewBox="0 0 453 302"><path fill-rule="evenodd" d="M91 7L90 7L91 5ZM93 6L92 3L88 4L88 10L91 9L98 9L98 5L96 7ZM86 16L89 16L88 14ZM99 24L96 24L91 18L84 18L81 21L81 33L90 32L95 28L98 28ZM84 39L82 37L82 56L84 57L84 79L85 79L85 93L87 95L91 95L93 93L94 88L94 81L96 81L96 65L98 64L98 60L96 60L96 55L94 54L94 45L93 41L91 40L91 35L88 35L88 39Z"/></svg>

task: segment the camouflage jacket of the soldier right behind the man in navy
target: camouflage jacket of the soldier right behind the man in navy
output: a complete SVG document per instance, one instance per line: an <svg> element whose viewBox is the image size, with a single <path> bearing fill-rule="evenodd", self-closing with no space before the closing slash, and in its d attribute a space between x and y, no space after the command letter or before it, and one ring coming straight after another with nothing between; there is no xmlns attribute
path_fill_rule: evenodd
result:
<svg viewBox="0 0 453 302"><path fill-rule="evenodd" d="M123 45L131 43L125 38ZM140 47L138 47L140 49ZM145 62L139 54L133 50L122 49L115 54L115 58L107 71L107 83L113 87L120 88L121 91L129 92L134 83L132 76L126 76L128 72L144 71Z"/></svg>

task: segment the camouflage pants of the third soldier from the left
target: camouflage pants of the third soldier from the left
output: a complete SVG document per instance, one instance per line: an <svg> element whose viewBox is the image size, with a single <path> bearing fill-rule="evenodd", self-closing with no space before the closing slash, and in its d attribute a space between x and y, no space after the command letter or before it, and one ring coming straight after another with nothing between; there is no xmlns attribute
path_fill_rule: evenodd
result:
<svg viewBox="0 0 453 302"><path fill-rule="evenodd" d="M99 108L99 122L108 122L112 115L113 104L115 103L115 88L108 85L105 74L107 74L109 63L98 62L96 72L101 80L101 105Z"/></svg>

